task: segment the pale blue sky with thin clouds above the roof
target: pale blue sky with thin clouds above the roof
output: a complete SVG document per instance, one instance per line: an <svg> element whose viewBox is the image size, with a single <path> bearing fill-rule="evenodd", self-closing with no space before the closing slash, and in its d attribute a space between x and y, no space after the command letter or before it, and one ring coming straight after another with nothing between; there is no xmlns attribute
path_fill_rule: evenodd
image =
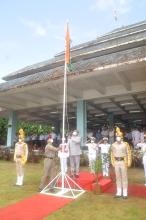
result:
<svg viewBox="0 0 146 220"><path fill-rule="evenodd" d="M75 46L146 20L146 0L0 0L0 82L65 47L69 21Z"/></svg>

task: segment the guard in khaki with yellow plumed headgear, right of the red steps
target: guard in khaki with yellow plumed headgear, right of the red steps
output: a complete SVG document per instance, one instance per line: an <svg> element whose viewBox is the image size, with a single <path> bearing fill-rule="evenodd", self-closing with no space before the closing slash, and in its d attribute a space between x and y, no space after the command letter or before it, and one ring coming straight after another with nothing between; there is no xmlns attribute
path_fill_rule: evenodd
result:
<svg viewBox="0 0 146 220"><path fill-rule="evenodd" d="M131 165L131 149L127 142L123 141L123 134L116 128L116 142L111 146L111 162L115 167L117 192L115 198L128 197L127 167Z"/></svg>

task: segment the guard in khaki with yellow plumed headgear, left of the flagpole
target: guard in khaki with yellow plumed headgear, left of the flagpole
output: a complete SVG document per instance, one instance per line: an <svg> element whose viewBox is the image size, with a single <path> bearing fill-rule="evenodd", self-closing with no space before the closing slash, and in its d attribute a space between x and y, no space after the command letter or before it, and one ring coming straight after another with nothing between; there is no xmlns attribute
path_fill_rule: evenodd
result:
<svg viewBox="0 0 146 220"><path fill-rule="evenodd" d="M15 144L15 152L14 152L14 161L16 162L16 172L17 172L17 186L23 185L24 179L24 165L27 161L28 157L28 147L24 142L24 131L23 129L19 130L19 140Z"/></svg>

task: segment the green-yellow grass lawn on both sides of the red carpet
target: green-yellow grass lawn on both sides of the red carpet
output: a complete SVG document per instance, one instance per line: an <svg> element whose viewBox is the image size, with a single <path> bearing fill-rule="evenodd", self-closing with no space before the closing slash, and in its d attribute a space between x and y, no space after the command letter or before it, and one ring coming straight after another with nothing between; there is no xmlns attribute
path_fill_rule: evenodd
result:
<svg viewBox="0 0 146 220"><path fill-rule="evenodd" d="M85 169L85 168L84 168ZM0 207L15 203L36 194L43 173L43 163L27 164L25 167L25 185L14 186L16 180L15 164L0 161ZM144 182L143 169L130 168L129 182ZM45 220L145 220L146 200L129 197L127 200L115 200L110 194L83 194L64 208L53 213Z"/></svg>

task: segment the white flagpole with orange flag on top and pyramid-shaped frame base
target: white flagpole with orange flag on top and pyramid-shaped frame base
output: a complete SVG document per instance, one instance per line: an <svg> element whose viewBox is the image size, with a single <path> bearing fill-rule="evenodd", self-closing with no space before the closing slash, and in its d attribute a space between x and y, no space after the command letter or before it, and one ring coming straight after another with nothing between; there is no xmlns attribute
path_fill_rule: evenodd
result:
<svg viewBox="0 0 146 220"><path fill-rule="evenodd" d="M46 195L62 196L66 198L77 198L82 195L85 191L67 175L66 162L69 156L68 147L65 139L65 129L66 129L66 115L67 115L67 65L70 64L70 36L69 28L67 23L66 29L66 47L65 47L65 64L64 64L64 83L63 83L63 115L62 115L62 143L61 150L58 156L60 157L61 172L41 191L41 193ZM67 151L66 151L67 147ZM60 184L61 183L61 184ZM58 185L59 184L59 185ZM51 189L54 192L51 192Z"/></svg>

